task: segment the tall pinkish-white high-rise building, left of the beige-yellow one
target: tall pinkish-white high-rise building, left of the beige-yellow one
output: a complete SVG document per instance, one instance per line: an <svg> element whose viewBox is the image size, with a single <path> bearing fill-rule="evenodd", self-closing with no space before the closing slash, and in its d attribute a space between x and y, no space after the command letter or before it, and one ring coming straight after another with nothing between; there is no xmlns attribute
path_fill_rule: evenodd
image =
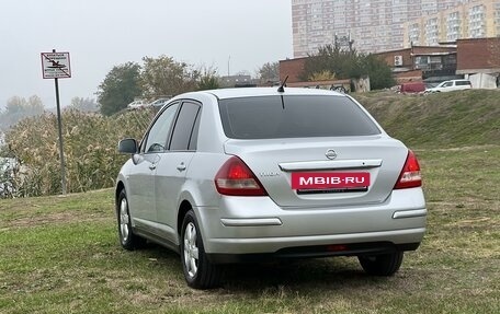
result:
<svg viewBox="0 0 500 314"><path fill-rule="evenodd" d="M292 0L294 57L315 54L325 45L365 53L399 49L405 22L470 1L475 0Z"/></svg>

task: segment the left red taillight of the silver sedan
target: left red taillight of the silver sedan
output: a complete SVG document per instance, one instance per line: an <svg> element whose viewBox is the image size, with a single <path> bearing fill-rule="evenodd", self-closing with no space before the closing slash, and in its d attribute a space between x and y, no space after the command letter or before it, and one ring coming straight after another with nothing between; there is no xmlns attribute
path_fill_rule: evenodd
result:
<svg viewBox="0 0 500 314"><path fill-rule="evenodd" d="M268 195L252 171L237 156L231 156L217 172L215 186L221 195Z"/></svg>

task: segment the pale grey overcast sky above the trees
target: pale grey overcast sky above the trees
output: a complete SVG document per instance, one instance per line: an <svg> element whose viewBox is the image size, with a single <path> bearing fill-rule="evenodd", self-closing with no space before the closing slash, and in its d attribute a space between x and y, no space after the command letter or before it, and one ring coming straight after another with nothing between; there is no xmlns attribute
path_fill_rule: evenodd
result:
<svg viewBox="0 0 500 314"><path fill-rule="evenodd" d="M55 107L41 61L52 49L70 54L63 106L94 98L114 66L145 56L253 75L293 57L291 11L291 0L0 0L0 107L31 95Z"/></svg>

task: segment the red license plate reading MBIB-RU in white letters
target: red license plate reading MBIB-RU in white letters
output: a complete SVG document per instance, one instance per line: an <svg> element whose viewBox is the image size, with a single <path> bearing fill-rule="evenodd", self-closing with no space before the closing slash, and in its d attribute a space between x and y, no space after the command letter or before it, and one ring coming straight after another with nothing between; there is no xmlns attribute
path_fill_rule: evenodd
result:
<svg viewBox="0 0 500 314"><path fill-rule="evenodd" d="M298 172L292 173L293 189L328 189L368 187L368 172Z"/></svg>

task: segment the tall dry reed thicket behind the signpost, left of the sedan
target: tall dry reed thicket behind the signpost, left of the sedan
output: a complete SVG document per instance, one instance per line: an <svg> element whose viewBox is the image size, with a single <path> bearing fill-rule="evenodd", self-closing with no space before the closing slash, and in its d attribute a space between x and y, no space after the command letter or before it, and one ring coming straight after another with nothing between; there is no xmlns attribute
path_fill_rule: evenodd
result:
<svg viewBox="0 0 500 314"><path fill-rule="evenodd" d="M122 138L140 139L154 112L134 111L112 117L64 111L63 138L68 193L87 191L114 185L127 159L118 154ZM57 117L21 120L5 133L8 154L20 163L11 178L14 196L54 195L61 191Z"/></svg>

